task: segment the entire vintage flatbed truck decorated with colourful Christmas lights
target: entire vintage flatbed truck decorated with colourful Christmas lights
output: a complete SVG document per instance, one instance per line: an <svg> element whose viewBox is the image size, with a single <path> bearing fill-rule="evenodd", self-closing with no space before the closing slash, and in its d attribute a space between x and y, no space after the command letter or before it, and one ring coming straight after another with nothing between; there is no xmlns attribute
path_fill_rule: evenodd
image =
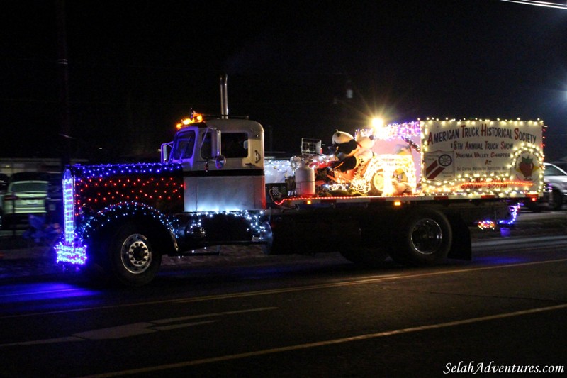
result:
<svg viewBox="0 0 567 378"><path fill-rule="evenodd" d="M192 113L177 128L161 162L67 167L58 263L140 286L162 256L213 245L340 252L365 267L470 260L469 227L511 223L544 187L539 120L336 130L325 150L304 138L283 160L266 158L247 118Z"/></svg>

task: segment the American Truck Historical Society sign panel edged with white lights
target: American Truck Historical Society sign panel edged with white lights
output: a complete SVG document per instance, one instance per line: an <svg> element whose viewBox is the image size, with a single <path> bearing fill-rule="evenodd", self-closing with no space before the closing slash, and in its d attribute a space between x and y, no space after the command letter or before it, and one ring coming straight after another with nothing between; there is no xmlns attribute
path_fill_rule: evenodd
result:
<svg viewBox="0 0 567 378"><path fill-rule="evenodd" d="M423 121L423 192L520 196L543 191L542 127L542 121Z"/></svg>

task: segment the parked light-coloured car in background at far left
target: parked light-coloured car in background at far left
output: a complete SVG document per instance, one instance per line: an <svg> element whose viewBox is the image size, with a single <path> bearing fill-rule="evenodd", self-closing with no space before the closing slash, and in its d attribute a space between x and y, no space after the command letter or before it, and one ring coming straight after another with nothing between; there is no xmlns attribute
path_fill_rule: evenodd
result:
<svg viewBox="0 0 567 378"><path fill-rule="evenodd" d="M46 180L42 180L38 176L14 174L10 179L6 193L1 196L0 221L2 228L27 221L30 214L45 216L46 197Z"/></svg>

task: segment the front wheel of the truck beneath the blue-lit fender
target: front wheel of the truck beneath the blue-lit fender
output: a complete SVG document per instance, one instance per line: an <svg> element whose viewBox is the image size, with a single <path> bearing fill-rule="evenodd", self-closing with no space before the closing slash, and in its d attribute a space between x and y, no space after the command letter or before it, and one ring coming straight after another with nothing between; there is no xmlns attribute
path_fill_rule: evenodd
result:
<svg viewBox="0 0 567 378"><path fill-rule="evenodd" d="M108 244L109 269L118 282L128 286L149 284L162 264L150 231L137 223L120 227Z"/></svg>

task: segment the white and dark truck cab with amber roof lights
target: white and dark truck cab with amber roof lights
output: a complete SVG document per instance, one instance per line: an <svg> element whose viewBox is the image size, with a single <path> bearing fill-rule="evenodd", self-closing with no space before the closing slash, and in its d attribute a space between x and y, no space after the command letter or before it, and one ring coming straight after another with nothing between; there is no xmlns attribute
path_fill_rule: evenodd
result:
<svg viewBox="0 0 567 378"><path fill-rule="evenodd" d="M180 125L173 142L162 146L162 160L183 167L186 212L266 208L259 123L193 116Z"/></svg>

